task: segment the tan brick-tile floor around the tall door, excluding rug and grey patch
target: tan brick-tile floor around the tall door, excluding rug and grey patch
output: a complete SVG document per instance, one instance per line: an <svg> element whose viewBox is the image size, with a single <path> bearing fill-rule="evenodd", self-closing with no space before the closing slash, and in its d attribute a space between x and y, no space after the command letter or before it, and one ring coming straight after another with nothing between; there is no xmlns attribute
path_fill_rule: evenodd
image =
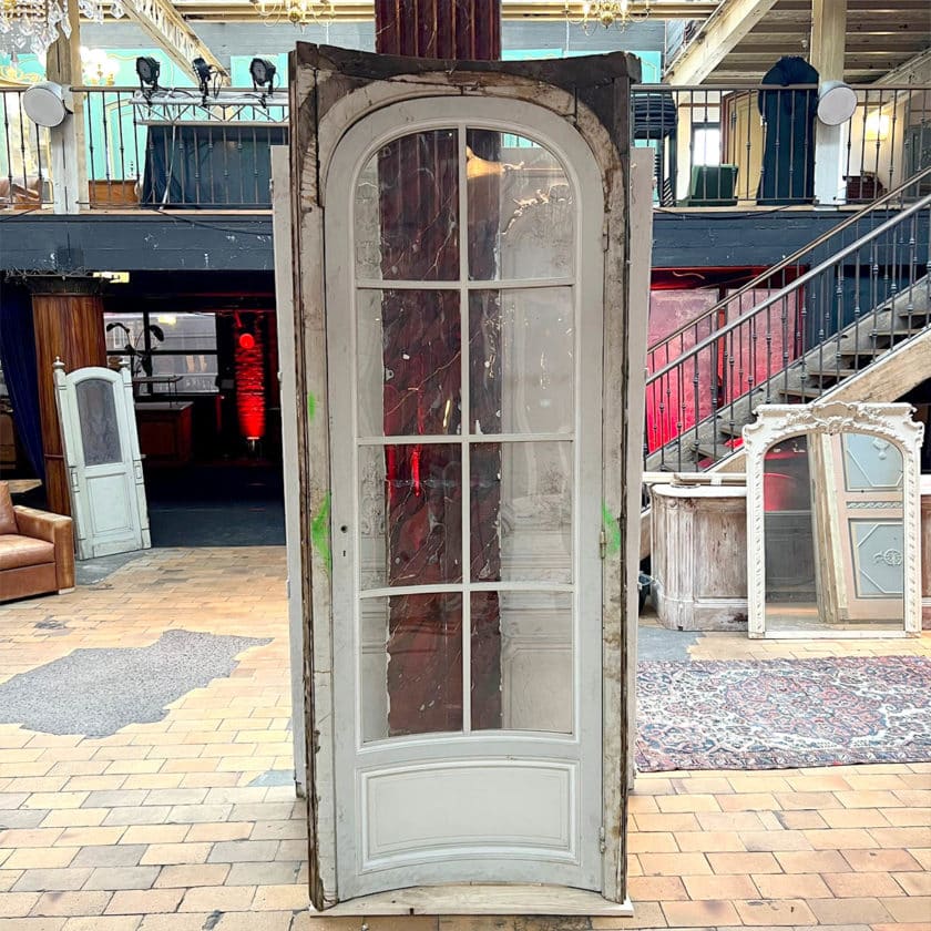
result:
<svg viewBox="0 0 931 931"><path fill-rule="evenodd" d="M632 920L311 915L284 566L280 548L157 550L72 594L0 606L0 682L172 628L272 638L154 724L100 739L0 725L0 931L931 929L929 764L640 777ZM688 651L927 655L931 641L723 634Z"/></svg>

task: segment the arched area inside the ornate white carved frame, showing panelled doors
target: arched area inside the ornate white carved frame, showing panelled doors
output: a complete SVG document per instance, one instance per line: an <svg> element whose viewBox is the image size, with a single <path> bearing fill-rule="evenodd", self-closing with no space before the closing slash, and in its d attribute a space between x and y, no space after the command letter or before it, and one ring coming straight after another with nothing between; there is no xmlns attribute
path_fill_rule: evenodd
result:
<svg viewBox="0 0 931 931"><path fill-rule="evenodd" d="M800 434L767 451L768 631L901 630L902 462L860 433Z"/></svg>

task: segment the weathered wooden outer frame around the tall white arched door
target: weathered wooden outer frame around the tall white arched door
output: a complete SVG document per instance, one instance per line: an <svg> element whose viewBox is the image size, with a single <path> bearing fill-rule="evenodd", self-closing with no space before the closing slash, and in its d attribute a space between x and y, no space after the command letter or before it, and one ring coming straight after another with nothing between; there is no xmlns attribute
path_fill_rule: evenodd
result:
<svg viewBox="0 0 931 931"><path fill-rule="evenodd" d="M296 385L305 416L298 438L301 600L305 617L310 892L315 907L342 898L336 882L332 733L332 587L325 182L339 140L358 120L416 98L480 95L523 100L574 127L594 156L603 193L602 572L603 819L601 894L623 902L628 771L628 618L636 616L638 469L642 446L645 300L632 315L628 94L636 64L624 54L553 62L430 62L298 44L291 59L291 191ZM645 198L641 209L648 211ZM345 209L345 205L341 206ZM643 252L641 252L641 255ZM638 283L644 280L638 275ZM627 389L632 389L628 399ZM628 408L628 400L633 403ZM628 533L628 526L632 531ZM633 557L632 555L633 554ZM633 559L633 561L632 561Z"/></svg>

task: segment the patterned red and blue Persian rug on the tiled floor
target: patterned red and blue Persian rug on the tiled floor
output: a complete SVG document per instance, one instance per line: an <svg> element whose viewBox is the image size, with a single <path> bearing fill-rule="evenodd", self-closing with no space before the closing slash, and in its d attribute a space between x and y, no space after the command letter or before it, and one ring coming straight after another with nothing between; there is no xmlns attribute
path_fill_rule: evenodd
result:
<svg viewBox="0 0 931 931"><path fill-rule="evenodd" d="M931 760L931 659L641 662L637 768Z"/></svg>

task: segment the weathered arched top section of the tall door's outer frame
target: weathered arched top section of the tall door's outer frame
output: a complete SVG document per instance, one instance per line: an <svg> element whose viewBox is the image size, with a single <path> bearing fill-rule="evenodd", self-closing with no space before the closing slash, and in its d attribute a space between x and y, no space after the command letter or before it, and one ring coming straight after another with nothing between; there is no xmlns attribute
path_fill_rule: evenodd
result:
<svg viewBox="0 0 931 931"><path fill-rule="evenodd" d="M606 198L623 197L626 190L621 182L628 153L630 85L640 76L638 62L632 55L616 52L553 61L453 62L309 43L298 43L294 54L291 112L301 114L309 109L317 124L315 144L311 137L301 137L307 123L299 121L298 144L293 150L297 160L294 177L311 202L321 202L336 147L354 125L377 111L400 108L392 110L393 132L387 133L383 144L424 127L422 116L410 126L398 117L405 115L403 104L429 100L437 119L447 125L469 120L472 111L472 122L479 127L536 136L555 150L562 147L560 136L584 141L601 173ZM443 108L443 99L449 98L468 99L474 109L457 106L451 121L449 108ZM570 153L563 152L566 155Z"/></svg>

